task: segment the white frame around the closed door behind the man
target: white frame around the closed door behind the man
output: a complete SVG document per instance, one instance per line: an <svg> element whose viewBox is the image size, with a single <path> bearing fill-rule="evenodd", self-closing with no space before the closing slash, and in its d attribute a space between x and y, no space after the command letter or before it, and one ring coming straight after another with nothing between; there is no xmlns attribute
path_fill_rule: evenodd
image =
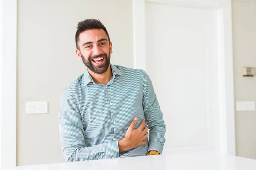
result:
<svg viewBox="0 0 256 170"><path fill-rule="evenodd" d="M236 156L231 0L133 0L134 67L144 71L146 2L217 11L219 146L220 153Z"/></svg>

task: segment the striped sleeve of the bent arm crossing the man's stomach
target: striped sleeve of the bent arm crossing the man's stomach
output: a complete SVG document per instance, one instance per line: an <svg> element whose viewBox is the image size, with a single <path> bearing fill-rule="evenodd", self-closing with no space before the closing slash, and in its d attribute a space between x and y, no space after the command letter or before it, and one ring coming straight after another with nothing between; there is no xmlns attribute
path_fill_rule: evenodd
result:
<svg viewBox="0 0 256 170"><path fill-rule="evenodd" d="M61 96L59 112L60 143L66 161L85 161L119 157L118 142L85 147L84 127L76 98L69 89Z"/></svg>

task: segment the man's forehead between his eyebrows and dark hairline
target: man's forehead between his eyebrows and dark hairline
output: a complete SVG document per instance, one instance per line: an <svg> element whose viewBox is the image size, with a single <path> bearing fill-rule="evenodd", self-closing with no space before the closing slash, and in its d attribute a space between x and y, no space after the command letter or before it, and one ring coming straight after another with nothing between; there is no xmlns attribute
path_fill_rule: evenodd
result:
<svg viewBox="0 0 256 170"><path fill-rule="evenodd" d="M108 36L103 29L86 30L79 34L79 44L83 44L84 42L97 42L102 38L108 40Z"/></svg>

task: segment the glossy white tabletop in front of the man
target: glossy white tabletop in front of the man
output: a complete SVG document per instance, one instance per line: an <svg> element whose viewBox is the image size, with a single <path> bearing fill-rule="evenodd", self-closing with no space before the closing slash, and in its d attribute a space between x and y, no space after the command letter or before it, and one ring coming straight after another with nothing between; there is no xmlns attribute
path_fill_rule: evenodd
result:
<svg viewBox="0 0 256 170"><path fill-rule="evenodd" d="M21 166L4 170L256 170L256 160L214 153L169 153L157 156Z"/></svg>

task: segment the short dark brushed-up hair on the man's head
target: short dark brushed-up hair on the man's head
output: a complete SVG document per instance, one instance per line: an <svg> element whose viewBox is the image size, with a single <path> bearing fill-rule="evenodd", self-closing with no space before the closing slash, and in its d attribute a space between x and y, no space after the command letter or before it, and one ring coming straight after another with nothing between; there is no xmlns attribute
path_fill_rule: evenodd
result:
<svg viewBox="0 0 256 170"><path fill-rule="evenodd" d="M79 42L80 33L84 32L86 30L89 30L89 29L103 29L108 36L108 42L110 42L108 31L105 28L105 26L99 20L87 19L87 20L83 20L77 24L77 30L76 30L76 48L77 49L79 49L78 42Z"/></svg>

